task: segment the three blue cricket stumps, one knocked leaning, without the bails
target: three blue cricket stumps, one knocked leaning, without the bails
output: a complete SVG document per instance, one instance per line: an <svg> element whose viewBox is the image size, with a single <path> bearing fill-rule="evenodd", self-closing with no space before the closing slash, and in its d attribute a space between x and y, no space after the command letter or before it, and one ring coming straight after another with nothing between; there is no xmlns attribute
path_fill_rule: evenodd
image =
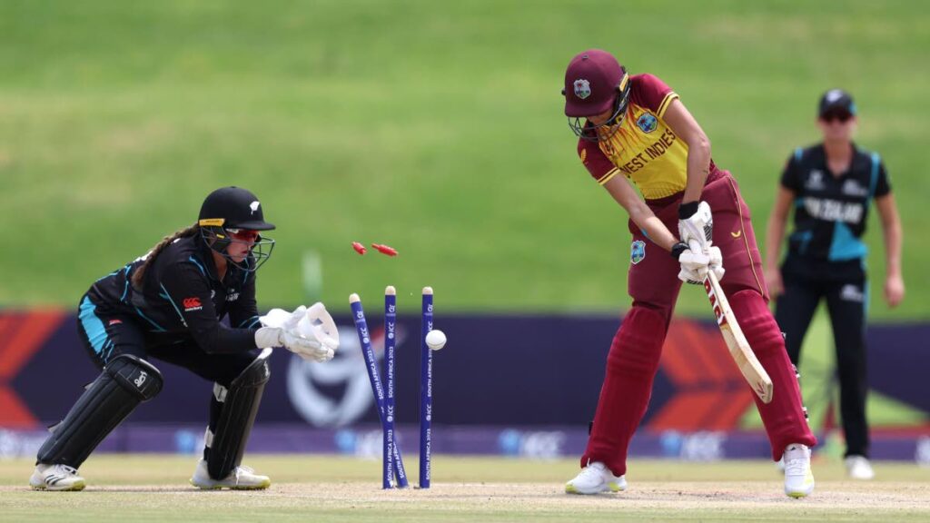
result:
<svg viewBox="0 0 930 523"><path fill-rule="evenodd" d="M397 342L397 291L392 286L384 289L384 368L385 384L382 384L371 347L371 336L362 309L362 299L358 294L349 297L352 307L352 319L359 342L362 343L362 355L365 356L365 368L368 380L378 404L383 443L382 488L398 489L407 487L404 459L397 445L394 431L395 396L394 372L395 346ZM422 314L420 316L420 352L419 352L419 488L430 488L431 452L432 452L432 349L426 342L426 335L432 330L432 288L424 287L422 293ZM395 482L396 481L396 482Z"/></svg>

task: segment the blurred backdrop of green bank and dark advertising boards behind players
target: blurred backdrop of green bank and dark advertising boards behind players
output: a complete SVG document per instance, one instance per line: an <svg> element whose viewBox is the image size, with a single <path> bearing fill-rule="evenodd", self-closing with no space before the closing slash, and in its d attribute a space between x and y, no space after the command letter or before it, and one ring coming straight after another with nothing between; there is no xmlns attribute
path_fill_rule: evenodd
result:
<svg viewBox="0 0 930 523"><path fill-rule="evenodd" d="M347 315L358 292L377 326L386 285L408 334L398 415L414 449L429 285L449 337L434 449L578 453L630 305L627 217L580 165L560 95L568 60L601 47L681 95L760 237L790 152L819 140L819 96L853 94L857 143L882 154L905 235L908 293L891 310L870 213L875 457L930 463L928 26L923 1L4 1L0 449L34 452L96 375L73 327L86 288L239 185L278 226L259 308L321 300L343 328L326 366L275 353L254 450L379 452ZM400 255L359 256L352 241ZM682 291L634 454L766 454L705 301ZM838 456L826 316L806 343L805 400L821 451ZM166 373L165 393L102 449L197 448L210 385Z"/></svg>

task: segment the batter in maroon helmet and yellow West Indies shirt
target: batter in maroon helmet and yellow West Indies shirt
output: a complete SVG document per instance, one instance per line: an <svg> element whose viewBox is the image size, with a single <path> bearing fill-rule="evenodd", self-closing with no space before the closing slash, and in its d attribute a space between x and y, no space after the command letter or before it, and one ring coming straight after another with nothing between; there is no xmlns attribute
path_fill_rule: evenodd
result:
<svg viewBox="0 0 930 523"><path fill-rule="evenodd" d="M632 234L632 307L607 355L582 470L565 491L626 489L627 450L649 403L682 281L699 284L713 271L774 384L768 404L749 388L746 394L762 415L773 460L784 456L787 463L785 492L810 494L810 447L817 440L804 418L781 331L768 310L762 258L737 182L714 165L704 131L678 94L656 76L631 76L610 53L590 49L568 64L564 94L581 162L627 210Z"/></svg>

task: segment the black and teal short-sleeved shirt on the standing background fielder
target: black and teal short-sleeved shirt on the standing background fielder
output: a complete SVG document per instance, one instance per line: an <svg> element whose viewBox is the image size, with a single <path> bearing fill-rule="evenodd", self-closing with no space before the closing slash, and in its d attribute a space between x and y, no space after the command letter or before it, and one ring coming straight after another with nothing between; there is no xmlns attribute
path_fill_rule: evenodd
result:
<svg viewBox="0 0 930 523"><path fill-rule="evenodd" d="M871 199L891 192L882 159L853 145L853 161L834 176L823 144L798 148L781 175L781 185L794 193L794 232L789 255L825 262L860 260L866 246Z"/></svg>

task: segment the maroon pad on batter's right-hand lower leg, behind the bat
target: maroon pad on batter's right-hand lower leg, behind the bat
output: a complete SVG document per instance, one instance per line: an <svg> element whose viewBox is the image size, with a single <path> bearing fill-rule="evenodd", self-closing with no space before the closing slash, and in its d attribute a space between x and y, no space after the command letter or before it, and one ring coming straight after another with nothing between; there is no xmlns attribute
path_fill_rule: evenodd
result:
<svg viewBox="0 0 930 523"><path fill-rule="evenodd" d="M762 295L754 289L740 290L729 300L746 341L772 379L771 403L766 405L759 396L752 394L772 444L772 459L781 458L785 447L791 443L813 447L817 438L807 426L797 375L785 350L781 330Z"/></svg>

